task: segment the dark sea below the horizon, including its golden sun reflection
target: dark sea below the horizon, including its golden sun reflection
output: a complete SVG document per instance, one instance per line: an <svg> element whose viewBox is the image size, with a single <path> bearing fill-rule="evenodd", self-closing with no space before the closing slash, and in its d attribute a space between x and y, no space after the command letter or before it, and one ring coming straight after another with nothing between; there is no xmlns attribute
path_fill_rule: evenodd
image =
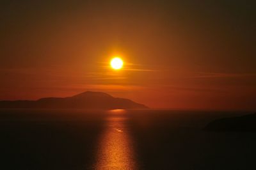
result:
<svg viewBox="0 0 256 170"><path fill-rule="evenodd" d="M206 132L248 112L0 110L0 169L256 169L256 134Z"/></svg>

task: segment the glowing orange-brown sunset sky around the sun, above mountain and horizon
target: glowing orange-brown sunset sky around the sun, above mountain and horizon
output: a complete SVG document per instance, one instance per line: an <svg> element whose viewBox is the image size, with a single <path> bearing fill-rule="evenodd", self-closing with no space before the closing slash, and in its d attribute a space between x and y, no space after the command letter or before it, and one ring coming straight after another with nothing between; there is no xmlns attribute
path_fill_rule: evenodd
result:
<svg viewBox="0 0 256 170"><path fill-rule="evenodd" d="M0 4L0 100L102 91L152 108L256 109L255 1Z"/></svg>

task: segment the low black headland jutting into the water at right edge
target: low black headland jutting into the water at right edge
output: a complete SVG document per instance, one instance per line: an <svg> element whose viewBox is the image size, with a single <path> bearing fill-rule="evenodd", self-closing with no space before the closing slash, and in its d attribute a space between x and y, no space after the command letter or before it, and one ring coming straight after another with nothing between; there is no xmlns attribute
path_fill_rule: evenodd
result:
<svg viewBox="0 0 256 170"><path fill-rule="evenodd" d="M214 120L204 130L256 132L256 113Z"/></svg>

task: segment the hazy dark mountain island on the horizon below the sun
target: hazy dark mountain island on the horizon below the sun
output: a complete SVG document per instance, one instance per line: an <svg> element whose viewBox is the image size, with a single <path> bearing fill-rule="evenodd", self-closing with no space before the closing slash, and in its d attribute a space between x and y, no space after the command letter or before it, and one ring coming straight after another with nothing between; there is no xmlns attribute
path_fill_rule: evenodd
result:
<svg viewBox="0 0 256 170"><path fill-rule="evenodd" d="M107 93L86 91L73 97L40 98L39 100L0 101L0 108L41 109L147 109L127 98L115 98Z"/></svg>

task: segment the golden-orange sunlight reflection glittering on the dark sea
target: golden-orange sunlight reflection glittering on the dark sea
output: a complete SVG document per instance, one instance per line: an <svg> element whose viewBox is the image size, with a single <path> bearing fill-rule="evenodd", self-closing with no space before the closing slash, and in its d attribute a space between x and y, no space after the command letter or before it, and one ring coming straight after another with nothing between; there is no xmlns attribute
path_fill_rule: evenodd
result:
<svg viewBox="0 0 256 170"><path fill-rule="evenodd" d="M94 169L138 169L132 139L125 125L127 112L118 109L109 111L108 115Z"/></svg>

